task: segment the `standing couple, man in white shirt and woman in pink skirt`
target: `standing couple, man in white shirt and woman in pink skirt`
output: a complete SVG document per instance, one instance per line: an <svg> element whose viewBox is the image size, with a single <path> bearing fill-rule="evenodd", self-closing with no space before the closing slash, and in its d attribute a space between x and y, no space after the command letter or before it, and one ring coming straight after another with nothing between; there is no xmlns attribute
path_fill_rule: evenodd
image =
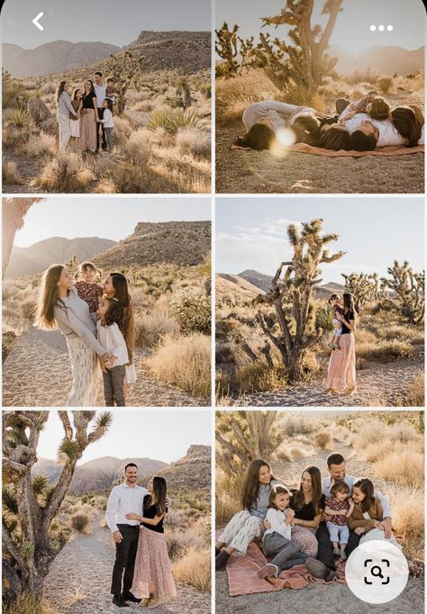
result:
<svg viewBox="0 0 427 614"><path fill-rule="evenodd" d="M165 478L154 476L148 490L137 481L138 467L128 463L123 483L114 486L107 502L115 543L111 593L119 608L132 601L154 609L177 596L163 528L169 499Z"/></svg>

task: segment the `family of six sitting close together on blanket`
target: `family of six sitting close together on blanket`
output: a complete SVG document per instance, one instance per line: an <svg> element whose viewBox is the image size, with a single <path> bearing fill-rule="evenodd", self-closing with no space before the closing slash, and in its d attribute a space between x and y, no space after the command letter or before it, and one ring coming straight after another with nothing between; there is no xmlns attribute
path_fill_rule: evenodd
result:
<svg viewBox="0 0 427 614"><path fill-rule="evenodd" d="M215 568L222 569L231 555L246 555L259 540L271 560L259 569L259 578L277 577L304 564L315 578L336 577L335 561L345 561L359 543L385 539L401 544L392 532L391 510L385 495L368 478L346 474L345 459L327 458L329 476L322 481L318 467L306 467L294 492L277 480L268 463L253 460L242 487L242 508L215 544ZM413 575L421 564L409 562Z"/></svg>

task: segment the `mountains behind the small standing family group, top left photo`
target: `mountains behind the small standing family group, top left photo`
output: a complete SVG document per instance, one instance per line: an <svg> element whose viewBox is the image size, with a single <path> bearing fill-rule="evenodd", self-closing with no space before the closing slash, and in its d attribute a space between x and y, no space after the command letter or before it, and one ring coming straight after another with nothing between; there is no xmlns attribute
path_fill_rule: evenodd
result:
<svg viewBox="0 0 427 614"><path fill-rule="evenodd" d="M158 70L192 74L211 68L211 32L190 31L142 31L123 49L104 42L52 41L32 50L4 43L3 67L13 77L51 75L76 81L95 70L105 71L103 60L126 50L143 59L141 74Z"/></svg>

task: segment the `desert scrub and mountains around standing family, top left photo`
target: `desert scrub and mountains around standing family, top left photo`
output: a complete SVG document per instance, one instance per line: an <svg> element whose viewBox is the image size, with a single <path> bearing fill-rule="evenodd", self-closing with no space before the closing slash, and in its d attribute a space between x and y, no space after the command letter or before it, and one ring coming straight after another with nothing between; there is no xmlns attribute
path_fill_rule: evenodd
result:
<svg viewBox="0 0 427 614"><path fill-rule="evenodd" d="M5 193L154 194L211 190L211 34L147 32L119 48L3 45ZM114 148L59 152L55 91L113 77Z"/></svg>

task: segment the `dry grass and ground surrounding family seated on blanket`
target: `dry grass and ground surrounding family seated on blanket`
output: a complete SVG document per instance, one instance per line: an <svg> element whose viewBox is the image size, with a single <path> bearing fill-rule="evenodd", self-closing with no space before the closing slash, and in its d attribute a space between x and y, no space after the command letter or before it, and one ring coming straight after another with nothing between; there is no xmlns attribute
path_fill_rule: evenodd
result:
<svg viewBox="0 0 427 614"><path fill-rule="evenodd" d="M216 529L240 510L236 492L245 465L266 459L272 473L296 488L304 467L318 466L327 475L326 457L333 451L346 459L347 473L371 479L389 499L393 528L404 535L404 555L424 558L423 413L414 411L218 412L216 418ZM251 437L257 429L259 438ZM380 442L380 443L378 443ZM411 450L409 452L409 449ZM243 460L246 459L246 460ZM255 567L254 567L255 569ZM255 571L254 571L255 573ZM250 614L292 610L323 612L334 603L339 612L420 613L424 609L423 573L409 578L403 593L382 605L362 603L345 583L310 582L301 590L259 592L230 597L227 573L216 573L216 611Z"/></svg>

